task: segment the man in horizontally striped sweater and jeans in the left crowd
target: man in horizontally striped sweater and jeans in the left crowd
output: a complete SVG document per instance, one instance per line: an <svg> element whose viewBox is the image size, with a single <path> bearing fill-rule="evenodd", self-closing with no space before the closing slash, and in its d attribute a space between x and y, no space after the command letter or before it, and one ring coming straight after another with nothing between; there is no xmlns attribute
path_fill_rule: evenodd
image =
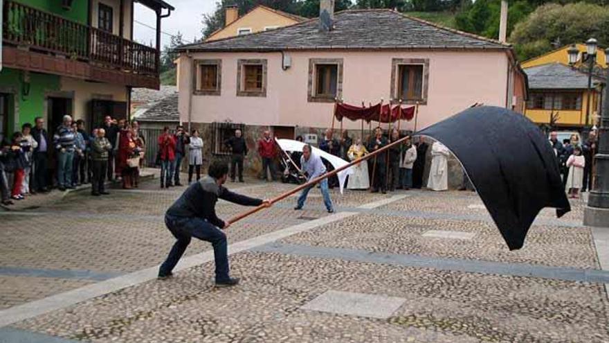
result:
<svg viewBox="0 0 609 343"><path fill-rule="evenodd" d="M74 159L76 134L71 127L72 117L64 116L60 127L55 130L53 144L57 150L57 188L65 191L72 185L72 164Z"/></svg>

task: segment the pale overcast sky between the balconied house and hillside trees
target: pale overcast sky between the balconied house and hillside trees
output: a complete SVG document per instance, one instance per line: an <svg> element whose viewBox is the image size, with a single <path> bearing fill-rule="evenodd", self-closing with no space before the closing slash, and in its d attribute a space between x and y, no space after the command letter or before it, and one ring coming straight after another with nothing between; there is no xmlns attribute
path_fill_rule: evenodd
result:
<svg viewBox="0 0 609 343"><path fill-rule="evenodd" d="M201 38L201 24L202 15L204 13L210 14L216 7L216 0L165 0L170 3L176 10L171 12L170 17L161 19L161 30L164 32L161 34L161 46L165 46L170 43L170 35L175 35L181 32L184 42L192 42L194 37L197 39ZM136 3L134 6L134 40L148 45L152 42L152 45L156 44L156 15L149 8ZM165 12L163 12L165 13ZM148 28L144 26L152 26ZM167 34L169 35L167 35Z"/></svg>

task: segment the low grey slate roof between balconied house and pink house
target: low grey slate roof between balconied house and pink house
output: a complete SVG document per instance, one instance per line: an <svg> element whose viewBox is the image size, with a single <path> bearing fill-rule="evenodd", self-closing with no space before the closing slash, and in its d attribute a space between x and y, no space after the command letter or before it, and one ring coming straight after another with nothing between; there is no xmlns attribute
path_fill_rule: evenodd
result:
<svg viewBox="0 0 609 343"><path fill-rule="evenodd" d="M131 101L143 104L136 107L137 121L180 121L178 92L175 86L161 86L161 90L134 89Z"/></svg>

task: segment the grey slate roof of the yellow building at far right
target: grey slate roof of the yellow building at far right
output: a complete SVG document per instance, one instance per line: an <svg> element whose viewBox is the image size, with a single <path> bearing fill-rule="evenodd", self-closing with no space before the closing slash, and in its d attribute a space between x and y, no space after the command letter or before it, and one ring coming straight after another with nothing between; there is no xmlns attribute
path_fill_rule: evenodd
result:
<svg viewBox="0 0 609 343"><path fill-rule="evenodd" d="M588 75L564 64L549 63L524 69L529 78L529 89L587 89ZM602 80L592 78L592 84Z"/></svg>

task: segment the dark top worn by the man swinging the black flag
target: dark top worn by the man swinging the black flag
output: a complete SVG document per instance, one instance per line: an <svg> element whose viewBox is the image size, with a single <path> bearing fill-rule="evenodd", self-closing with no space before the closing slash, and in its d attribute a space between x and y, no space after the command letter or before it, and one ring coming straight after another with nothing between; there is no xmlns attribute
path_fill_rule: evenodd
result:
<svg viewBox="0 0 609 343"><path fill-rule="evenodd" d="M184 193L167 209L168 216L185 218L202 218L219 228L224 227L224 221L216 216L218 198L244 206L259 206L262 200L247 197L228 191L224 186L218 186L213 177L203 177L186 188Z"/></svg>

